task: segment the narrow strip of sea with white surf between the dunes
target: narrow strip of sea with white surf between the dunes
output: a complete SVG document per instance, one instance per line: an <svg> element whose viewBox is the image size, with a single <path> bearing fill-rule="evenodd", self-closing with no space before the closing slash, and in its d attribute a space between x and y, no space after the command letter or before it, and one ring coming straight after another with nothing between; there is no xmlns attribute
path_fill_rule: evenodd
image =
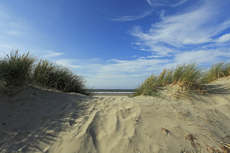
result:
<svg viewBox="0 0 230 153"><path fill-rule="evenodd" d="M92 89L96 95L131 95L135 89Z"/></svg>

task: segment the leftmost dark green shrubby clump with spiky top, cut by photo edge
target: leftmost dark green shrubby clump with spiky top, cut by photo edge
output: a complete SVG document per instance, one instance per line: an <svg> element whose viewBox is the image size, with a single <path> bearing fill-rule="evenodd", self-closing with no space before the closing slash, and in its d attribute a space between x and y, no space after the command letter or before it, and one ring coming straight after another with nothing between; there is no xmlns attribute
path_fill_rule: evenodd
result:
<svg viewBox="0 0 230 153"><path fill-rule="evenodd" d="M18 51L0 60L0 82L4 86L22 86L30 80L35 58L27 54L18 55Z"/></svg>

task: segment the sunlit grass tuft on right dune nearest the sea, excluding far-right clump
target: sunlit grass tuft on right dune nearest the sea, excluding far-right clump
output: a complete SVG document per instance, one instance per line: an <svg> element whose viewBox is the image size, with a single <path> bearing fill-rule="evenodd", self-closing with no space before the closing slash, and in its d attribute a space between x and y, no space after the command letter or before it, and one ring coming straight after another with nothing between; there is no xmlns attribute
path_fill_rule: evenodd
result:
<svg viewBox="0 0 230 153"><path fill-rule="evenodd" d="M171 88L176 89L173 95L188 95L191 92L203 94L206 91L206 86L199 82L202 72L203 69L196 63L177 65L175 69L164 69L160 75L152 75L147 78L136 89L134 96L156 96L158 95L157 89L167 85L171 85Z"/></svg>

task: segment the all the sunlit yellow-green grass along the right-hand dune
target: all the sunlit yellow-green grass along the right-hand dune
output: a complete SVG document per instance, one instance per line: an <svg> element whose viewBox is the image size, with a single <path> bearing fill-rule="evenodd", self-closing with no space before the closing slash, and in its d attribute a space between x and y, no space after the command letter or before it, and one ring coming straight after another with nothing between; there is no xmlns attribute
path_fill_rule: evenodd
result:
<svg viewBox="0 0 230 153"><path fill-rule="evenodd" d="M207 83L229 75L230 63L225 62L216 63L208 70L201 68L196 63L177 65L175 69L164 69L160 75L151 75L148 77L141 86L136 89L133 96L156 96L158 95L157 89L159 89L159 87L165 87L169 84L172 88L174 86L178 87L178 90L173 94L204 94L208 92Z"/></svg>

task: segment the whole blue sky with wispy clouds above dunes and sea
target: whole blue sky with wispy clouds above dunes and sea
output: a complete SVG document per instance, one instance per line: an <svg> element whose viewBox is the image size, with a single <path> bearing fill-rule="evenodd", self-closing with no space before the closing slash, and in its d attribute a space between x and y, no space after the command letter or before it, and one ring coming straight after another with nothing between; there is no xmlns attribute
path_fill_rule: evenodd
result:
<svg viewBox="0 0 230 153"><path fill-rule="evenodd" d="M69 67L89 88L138 87L164 68L230 57L229 0L5 0L0 56Z"/></svg>

